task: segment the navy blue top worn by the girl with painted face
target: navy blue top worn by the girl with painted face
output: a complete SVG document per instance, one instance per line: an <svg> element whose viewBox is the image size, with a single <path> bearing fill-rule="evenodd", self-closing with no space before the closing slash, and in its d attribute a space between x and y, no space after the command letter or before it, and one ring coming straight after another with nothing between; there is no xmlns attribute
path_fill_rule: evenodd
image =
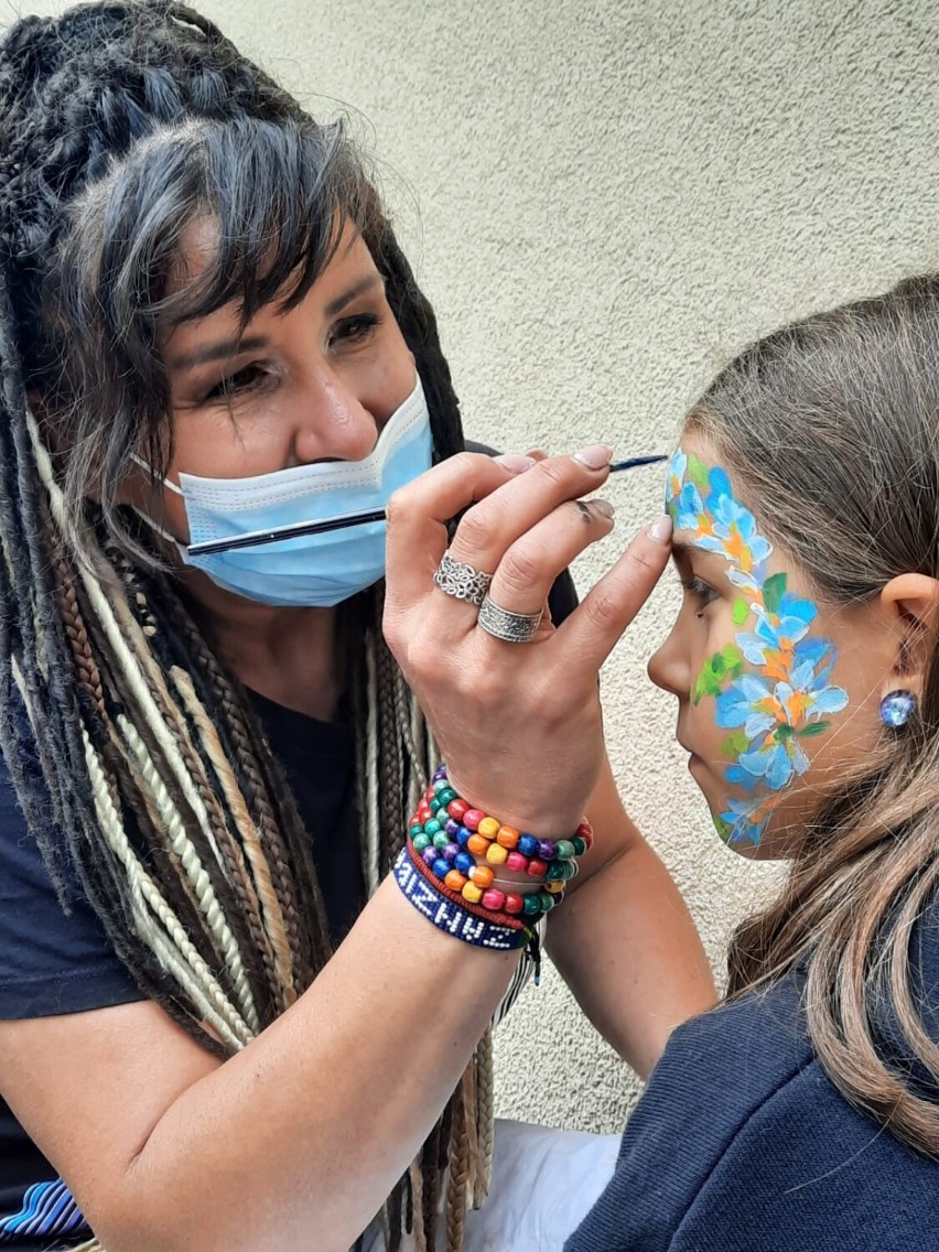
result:
<svg viewBox="0 0 939 1252"><path fill-rule="evenodd" d="M939 905L910 944L939 1040ZM679 1027L632 1114L616 1172L565 1252L936 1252L939 1162L853 1108L813 1052L793 977ZM918 1093L888 1019L878 1047Z"/></svg>

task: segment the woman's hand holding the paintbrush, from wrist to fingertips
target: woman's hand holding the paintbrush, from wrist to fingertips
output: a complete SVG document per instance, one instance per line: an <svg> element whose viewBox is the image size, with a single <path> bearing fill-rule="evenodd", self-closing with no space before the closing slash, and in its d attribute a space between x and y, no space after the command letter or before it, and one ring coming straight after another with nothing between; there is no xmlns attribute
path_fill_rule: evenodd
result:
<svg viewBox="0 0 939 1252"><path fill-rule="evenodd" d="M669 558L667 518L640 533L578 608L530 642L493 639L480 610L433 573L449 553L491 573L491 600L515 613L545 606L555 578L612 530L603 444L572 457L461 453L398 491L388 508L384 632L449 766L456 790L541 838L570 834L603 762L597 672ZM523 468L525 467L525 468ZM661 532L661 535L659 535Z"/></svg>

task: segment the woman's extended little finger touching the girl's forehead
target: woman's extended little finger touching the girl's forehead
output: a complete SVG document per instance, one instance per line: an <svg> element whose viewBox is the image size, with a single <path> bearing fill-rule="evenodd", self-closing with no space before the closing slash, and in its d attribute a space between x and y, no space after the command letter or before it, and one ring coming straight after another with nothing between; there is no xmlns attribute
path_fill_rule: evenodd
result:
<svg viewBox="0 0 939 1252"><path fill-rule="evenodd" d="M571 681L596 674L649 600L671 555L671 518L660 517L634 538L616 565L558 627Z"/></svg>

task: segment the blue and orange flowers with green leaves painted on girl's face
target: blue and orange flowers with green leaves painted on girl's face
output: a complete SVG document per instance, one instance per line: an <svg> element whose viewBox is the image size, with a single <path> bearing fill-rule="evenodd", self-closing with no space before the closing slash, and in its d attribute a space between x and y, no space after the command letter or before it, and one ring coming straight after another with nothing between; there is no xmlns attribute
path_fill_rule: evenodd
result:
<svg viewBox="0 0 939 1252"><path fill-rule="evenodd" d="M726 560L727 577L740 588L732 606L737 634L707 659L691 702L715 697L716 722L729 731L724 776L744 793L727 798L714 819L717 831L729 844L755 846L782 789L809 769L803 740L829 729L824 719L848 705L848 692L830 682L834 644L809 634L816 605L786 590L786 573L767 573L772 545L734 496L726 471L679 449L669 467L666 510L695 547Z"/></svg>

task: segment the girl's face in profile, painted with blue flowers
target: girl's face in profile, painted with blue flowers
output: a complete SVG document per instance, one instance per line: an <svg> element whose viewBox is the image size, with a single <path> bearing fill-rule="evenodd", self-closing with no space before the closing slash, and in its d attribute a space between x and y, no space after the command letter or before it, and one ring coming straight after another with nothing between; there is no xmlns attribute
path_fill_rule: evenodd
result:
<svg viewBox="0 0 939 1252"><path fill-rule="evenodd" d="M831 785L880 736L894 640L878 608L825 607L707 442L686 434L666 488L685 595L649 665L721 838L791 855Z"/></svg>

